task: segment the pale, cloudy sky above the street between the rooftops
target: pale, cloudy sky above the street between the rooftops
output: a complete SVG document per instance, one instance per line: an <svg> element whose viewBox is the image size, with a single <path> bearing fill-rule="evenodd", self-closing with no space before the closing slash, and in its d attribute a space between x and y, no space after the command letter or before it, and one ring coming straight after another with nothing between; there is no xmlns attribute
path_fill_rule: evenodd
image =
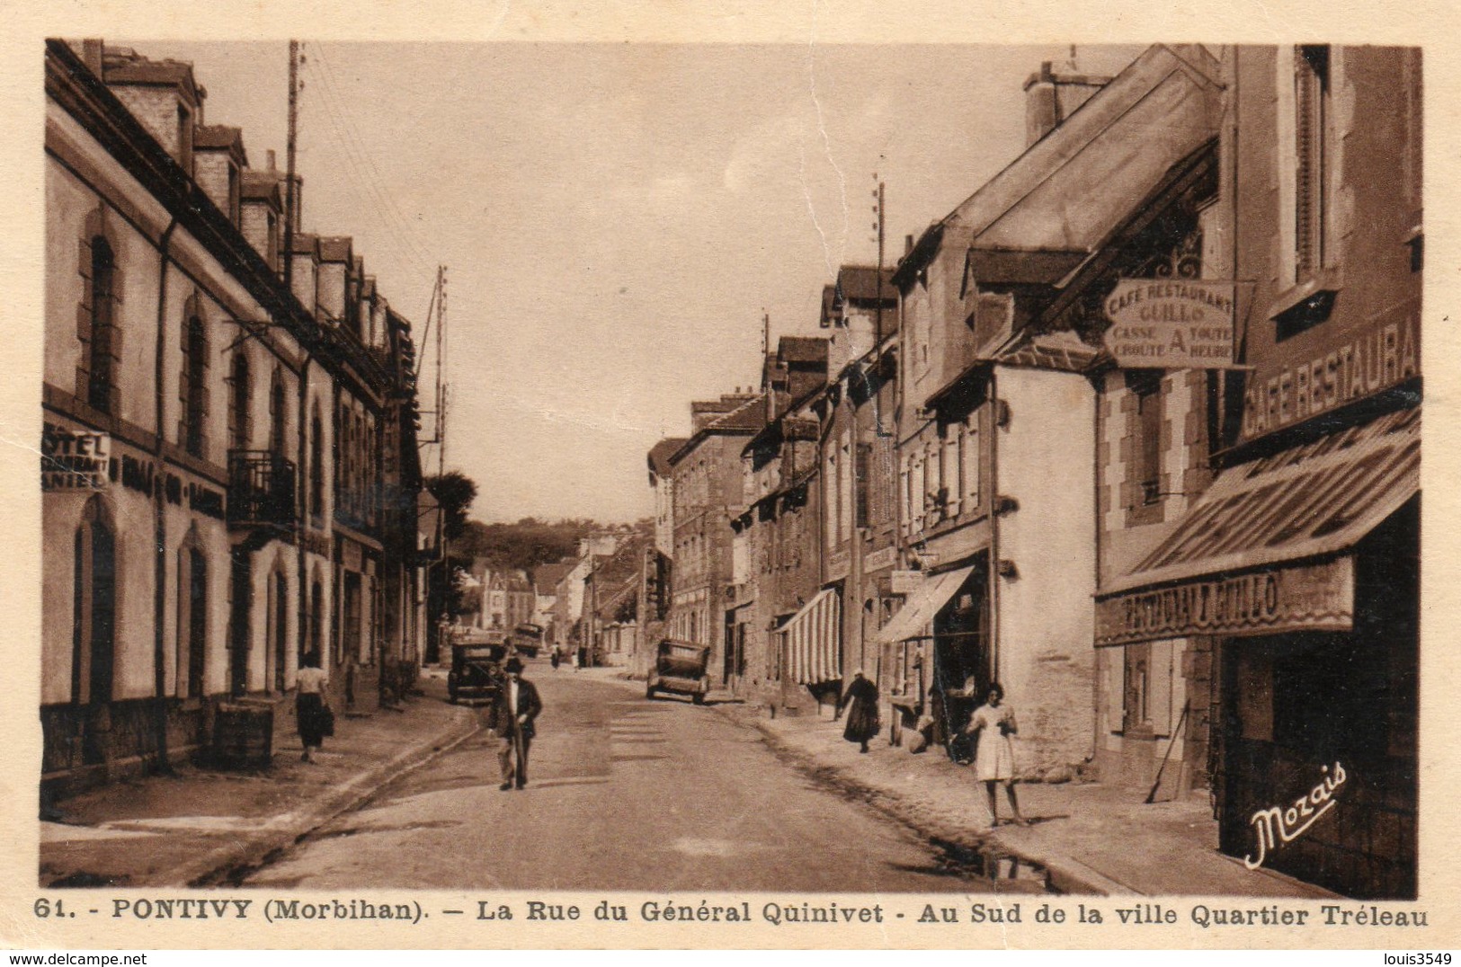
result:
<svg viewBox="0 0 1461 967"><path fill-rule="evenodd" d="M194 64L205 120L283 167L285 42L112 39ZM1115 73L1138 47L1080 47ZM875 264L1024 149L1021 86L1071 48L304 41L302 229L351 235L432 383L447 267L446 467L479 520L652 513L646 451L690 402L818 335L823 285ZM877 175L877 180L875 177ZM430 397L422 403L431 409ZM431 418L425 418L427 435ZM437 466L437 451L424 459Z"/></svg>

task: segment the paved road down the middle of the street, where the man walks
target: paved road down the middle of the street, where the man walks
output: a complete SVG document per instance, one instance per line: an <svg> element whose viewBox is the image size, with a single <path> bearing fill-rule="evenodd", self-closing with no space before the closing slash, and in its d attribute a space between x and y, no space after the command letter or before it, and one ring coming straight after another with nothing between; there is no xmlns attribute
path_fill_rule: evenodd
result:
<svg viewBox="0 0 1461 967"><path fill-rule="evenodd" d="M527 676L545 706L527 789L498 790L497 760L479 735L244 882L307 890L989 888L903 827L818 787L777 760L758 732L712 708L646 701L598 672L552 672L542 662Z"/></svg>

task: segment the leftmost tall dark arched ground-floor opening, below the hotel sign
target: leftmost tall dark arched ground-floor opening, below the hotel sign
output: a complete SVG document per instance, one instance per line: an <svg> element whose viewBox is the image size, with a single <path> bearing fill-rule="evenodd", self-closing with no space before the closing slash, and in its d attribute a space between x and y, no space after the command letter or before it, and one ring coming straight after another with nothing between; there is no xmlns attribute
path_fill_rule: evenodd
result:
<svg viewBox="0 0 1461 967"><path fill-rule="evenodd" d="M73 549L72 701L108 703L115 656L117 539L99 497L82 511Z"/></svg>

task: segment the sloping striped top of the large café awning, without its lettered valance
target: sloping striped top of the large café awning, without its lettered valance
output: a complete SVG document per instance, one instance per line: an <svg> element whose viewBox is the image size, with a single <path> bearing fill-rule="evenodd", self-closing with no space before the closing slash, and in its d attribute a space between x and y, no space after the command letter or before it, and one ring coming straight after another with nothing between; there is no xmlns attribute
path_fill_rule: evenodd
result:
<svg viewBox="0 0 1461 967"><path fill-rule="evenodd" d="M1178 529L1105 597L1341 554L1420 491L1420 409L1223 470Z"/></svg>

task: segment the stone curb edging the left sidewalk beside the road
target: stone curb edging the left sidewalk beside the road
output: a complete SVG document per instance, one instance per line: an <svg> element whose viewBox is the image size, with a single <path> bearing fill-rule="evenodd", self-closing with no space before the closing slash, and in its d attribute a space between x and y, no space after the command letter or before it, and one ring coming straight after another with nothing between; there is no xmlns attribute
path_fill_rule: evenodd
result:
<svg viewBox="0 0 1461 967"><path fill-rule="evenodd" d="M167 871L159 871L140 879L137 887L209 887L231 871L260 863L275 850L292 846L300 838L349 812L370 799L386 783L425 765L438 755L449 752L479 730L478 719L469 708L454 708L451 725L392 760L358 773L336 789L305 802L294 814L294 821L281 828L245 837L240 841L209 850L194 860Z"/></svg>

